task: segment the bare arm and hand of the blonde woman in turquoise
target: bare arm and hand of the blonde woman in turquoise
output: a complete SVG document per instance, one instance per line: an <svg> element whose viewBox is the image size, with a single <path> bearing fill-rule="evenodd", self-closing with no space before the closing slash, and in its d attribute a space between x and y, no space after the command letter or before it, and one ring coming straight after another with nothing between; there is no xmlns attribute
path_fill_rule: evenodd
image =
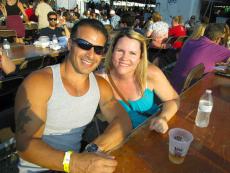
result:
<svg viewBox="0 0 230 173"><path fill-rule="evenodd" d="M149 81L153 86L152 89L163 102L162 111L159 116L151 120L150 129L165 133L168 130L167 122L179 108L179 96L158 67L150 65L148 73L148 76L150 76Z"/></svg>

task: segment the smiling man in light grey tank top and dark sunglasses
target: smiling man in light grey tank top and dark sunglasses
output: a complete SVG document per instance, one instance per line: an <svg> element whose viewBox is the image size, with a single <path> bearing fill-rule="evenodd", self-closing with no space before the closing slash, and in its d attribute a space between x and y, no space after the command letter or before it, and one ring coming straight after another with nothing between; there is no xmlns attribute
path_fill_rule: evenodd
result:
<svg viewBox="0 0 230 173"><path fill-rule="evenodd" d="M24 159L19 164L21 172L115 170L115 158L104 152L124 140L131 122L110 85L92 73L102 59L107 38L101 22L82 19L72 28L66 60L32 73L20 86L15 116L17 150ZM98 103L109 126L87 145L88 153L78 153L82 132Z"/></svg>

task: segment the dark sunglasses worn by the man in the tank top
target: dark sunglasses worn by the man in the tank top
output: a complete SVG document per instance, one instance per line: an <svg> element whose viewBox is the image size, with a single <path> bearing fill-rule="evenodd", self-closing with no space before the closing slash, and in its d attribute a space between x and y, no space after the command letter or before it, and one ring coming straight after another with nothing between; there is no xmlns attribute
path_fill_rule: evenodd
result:
<svg viewBox="0 0 230 173"><path fill-rule="evenodd" d="M72 41L74 43L76 43L78 45L78 47L80 47L81 49L90 50L93 47L94 48L94 52L96 54L103 55L105 53L104 46L93 45L93 44L89 43L88 41L83 40L81 38L72 39Z"/></svg>

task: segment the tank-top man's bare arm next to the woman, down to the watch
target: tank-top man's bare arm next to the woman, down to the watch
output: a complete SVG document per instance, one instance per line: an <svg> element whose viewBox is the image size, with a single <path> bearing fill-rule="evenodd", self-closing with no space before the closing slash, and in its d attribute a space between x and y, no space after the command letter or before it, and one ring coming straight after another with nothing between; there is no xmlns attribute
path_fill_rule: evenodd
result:
<svg viewBox="0 0 230 173"><path fill-rule="evenodd" d="M105 132L94 140L102 151L117 147L131 132L132 125L128 113L115 99L110 85L97 76L100 88L100 109L109 122Z"/></svg>

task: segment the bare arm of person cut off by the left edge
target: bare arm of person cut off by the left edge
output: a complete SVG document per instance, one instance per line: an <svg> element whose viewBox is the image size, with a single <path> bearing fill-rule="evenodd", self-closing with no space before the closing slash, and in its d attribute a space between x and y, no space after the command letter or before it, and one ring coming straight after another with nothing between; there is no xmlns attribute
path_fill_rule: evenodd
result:
<svg viewBox="0 0 230 173"><path fill-rule="evenodd" d="M2 49L0 49L0 71L2 70L5 74L10 74L16 69L15 64L11 61L10 58L3 55ZM3 77L3 74L0 73L0 79Z"/></svg>

